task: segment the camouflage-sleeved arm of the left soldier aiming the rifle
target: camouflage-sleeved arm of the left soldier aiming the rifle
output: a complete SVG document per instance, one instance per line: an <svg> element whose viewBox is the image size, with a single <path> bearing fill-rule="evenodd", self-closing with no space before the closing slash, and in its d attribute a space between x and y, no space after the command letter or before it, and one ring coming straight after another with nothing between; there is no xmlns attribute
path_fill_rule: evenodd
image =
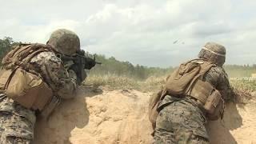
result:
<svg viewBox="0 0 256 144"><path fill-rule="evenodd" d="M38 68L39 73L49 84L54 94L60 98L74 98L77 83L74 71L64 68L62 60L52 52L42 52L31 63Z"/></svg>

